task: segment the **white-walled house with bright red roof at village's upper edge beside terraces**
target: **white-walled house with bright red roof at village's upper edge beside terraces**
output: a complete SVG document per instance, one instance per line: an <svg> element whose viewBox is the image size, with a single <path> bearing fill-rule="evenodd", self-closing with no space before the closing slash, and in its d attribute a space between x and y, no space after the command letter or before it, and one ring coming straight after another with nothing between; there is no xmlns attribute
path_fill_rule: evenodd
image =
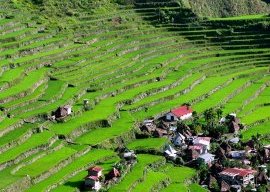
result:
<svg viewBox="0 0 270 192"><path fill-rule="evenodd" d="M181 106L176 109L171 110L166 114L167 121L178 121L178 120L186 120L192 117L193 110L187 106Z"/></svg>

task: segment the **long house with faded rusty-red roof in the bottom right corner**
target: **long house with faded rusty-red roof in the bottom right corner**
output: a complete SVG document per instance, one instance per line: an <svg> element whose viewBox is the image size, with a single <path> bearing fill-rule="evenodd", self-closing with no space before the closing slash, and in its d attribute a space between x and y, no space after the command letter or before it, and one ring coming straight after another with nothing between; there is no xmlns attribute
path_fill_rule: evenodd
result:
<svg viewBox="0 0 270 192"><path fill-rule="evenodd" d="M219 173L222 180L231 185L254 184L254 176L257 173L255 170L242 168L227 168Z"/></svg>

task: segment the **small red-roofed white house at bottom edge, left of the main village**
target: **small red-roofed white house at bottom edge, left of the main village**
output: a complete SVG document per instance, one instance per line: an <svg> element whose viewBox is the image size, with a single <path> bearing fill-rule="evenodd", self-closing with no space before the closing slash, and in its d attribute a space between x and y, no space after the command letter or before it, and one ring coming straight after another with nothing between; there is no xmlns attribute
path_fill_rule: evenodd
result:
<svg viewBox="0 0 270 192"><path fill-rule="evenodd" d="M102 176L102 168L93 166L88 169L88 175L85 177L85 186L95 191L101 189L100 178Z"/></svg>

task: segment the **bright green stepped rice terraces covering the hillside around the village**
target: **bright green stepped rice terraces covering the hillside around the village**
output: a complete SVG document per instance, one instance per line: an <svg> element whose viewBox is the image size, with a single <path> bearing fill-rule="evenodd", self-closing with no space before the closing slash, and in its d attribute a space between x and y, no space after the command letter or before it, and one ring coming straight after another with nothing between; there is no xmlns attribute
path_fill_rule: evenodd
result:
<svg viewBox="0 0 270 192"><path fill-rule="evenodd" d="M159 23L151 3L101 5L81 11L71 33L44 30L5 6L14 17L1 11L1 190L74 191L88 166L110 170L120 160L115 149L126 145L157 155L138 154L108 191L204 191L188 182L195 170L159 155L167 138L135 137L138 122L187 102L199 113L237 112L249 127L246 140L269 134L269 31L220 25L263 16ZM73 108L64 122L46 118L66 104Z"/></svg>

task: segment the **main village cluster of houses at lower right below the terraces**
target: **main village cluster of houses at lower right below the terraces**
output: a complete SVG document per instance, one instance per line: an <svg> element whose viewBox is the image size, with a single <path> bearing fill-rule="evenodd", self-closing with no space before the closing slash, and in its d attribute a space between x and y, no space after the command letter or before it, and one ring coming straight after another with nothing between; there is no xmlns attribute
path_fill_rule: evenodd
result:
<svg viewBox="0 0 270 192"><path fill-rule="evenodd" d="M227 126L231 134L225 142L214 139L219 147L213 149L212 153L210 150L213 138L209 135L198 136L193 134L188 127L181 129L177 127L179 122L192 118L192 114L191 107L184 105L171 110L158 120L145 120L140 129L143 133L151 134L154 137L169 138L171 143L167 144L164 149L164 155L167 159L182 158L185 160L185 165L200 166L204 164L208 166L209 170L213 170L214 174L209 171L210 174L200 182L209 189L211 189L213 181L218 183L220 191L237 192L242 191L243 187L248 185L255 187L270 181L266 169L255 170L248 160L250 156L256 156L261 158L261 162L269 162L270 146L265 146L260 151L260 155L258 155L254 145L252 146L252 142L247 143L246 148L242 150L234 147L240 142L240 138L235 135L242 128L236 114L232 113L220 119L219 123ZM222 166L221 162L225 159L237 161L241 166Z"/></svg>

